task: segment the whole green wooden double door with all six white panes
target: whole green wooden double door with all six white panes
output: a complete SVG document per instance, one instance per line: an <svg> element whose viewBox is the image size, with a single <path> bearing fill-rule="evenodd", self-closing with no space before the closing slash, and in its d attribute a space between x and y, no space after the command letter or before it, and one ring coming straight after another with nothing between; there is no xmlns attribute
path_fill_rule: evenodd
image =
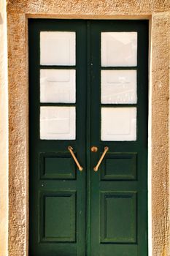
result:
<svg viewBox="0 0 170 256"><path fill-rule="evenodd" d="M29 20L30 256L147 256L147 48L147 20Z"/></svg>

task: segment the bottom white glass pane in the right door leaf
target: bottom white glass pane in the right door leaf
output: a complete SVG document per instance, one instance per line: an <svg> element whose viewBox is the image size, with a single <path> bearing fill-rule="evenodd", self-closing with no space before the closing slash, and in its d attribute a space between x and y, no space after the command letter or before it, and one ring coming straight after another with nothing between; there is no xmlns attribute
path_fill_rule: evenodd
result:
<svg viewBox="0 0 170 256"><path fill-rule="evenodd" d="M136 108L101 108L101 140L136 140Z"/></svg>

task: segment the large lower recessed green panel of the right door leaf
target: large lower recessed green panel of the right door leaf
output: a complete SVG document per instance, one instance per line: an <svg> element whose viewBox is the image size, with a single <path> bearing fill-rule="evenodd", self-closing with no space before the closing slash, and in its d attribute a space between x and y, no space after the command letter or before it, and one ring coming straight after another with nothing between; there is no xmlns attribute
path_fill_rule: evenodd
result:
<svg viewBox="0 0 170 256"><path fill-rule="evenodd" d="M101 244L136 244L136 192L101 192Z"/></svg>

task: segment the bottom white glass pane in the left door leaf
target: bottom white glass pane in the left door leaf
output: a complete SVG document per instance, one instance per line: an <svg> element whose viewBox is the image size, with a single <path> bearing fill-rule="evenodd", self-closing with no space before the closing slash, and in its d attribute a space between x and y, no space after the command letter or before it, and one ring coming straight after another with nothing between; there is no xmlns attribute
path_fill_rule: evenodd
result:
<svg viewBox="0 0 170 256"><path fill-rule="evenodd" d="M75 107L41 107L40 139L75 140Z"/></svg>

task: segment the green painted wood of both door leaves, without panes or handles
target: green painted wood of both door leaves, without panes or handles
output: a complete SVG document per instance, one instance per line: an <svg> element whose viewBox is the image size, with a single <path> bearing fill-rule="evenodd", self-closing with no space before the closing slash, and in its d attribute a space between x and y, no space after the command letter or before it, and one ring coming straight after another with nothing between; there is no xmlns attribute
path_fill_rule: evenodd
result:
<svg viewBox="0 0 170 256"><path fill-rule="evenodd" d="M40 66L40 31L76 31L76 67ZM138 66L101 67L101 31L137 31ZM147 50L147 20L29 20L30 256L147 256ZM76 69L76 140L39 140L39 107L66 105L39 103L40 68ZM100 139L101 69L137 70L136 141Z"/></svg>

